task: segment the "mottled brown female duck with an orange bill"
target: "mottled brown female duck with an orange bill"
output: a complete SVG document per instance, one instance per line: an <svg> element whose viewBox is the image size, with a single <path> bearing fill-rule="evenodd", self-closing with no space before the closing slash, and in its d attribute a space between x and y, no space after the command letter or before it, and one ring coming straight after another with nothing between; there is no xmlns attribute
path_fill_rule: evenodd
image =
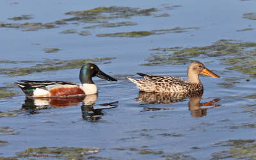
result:
<svg viewBox="0 0 256 160"><path fill-rule="evenodd" d="M196 92L203 91L204 87L200 82L198 75L203 74L212 76L213 78L220 78L220 76L212 73L205 68L202 62L192 62L187 71L188 81L175 76L157 76L137 73L145 79L132 79L131 82L137 85L140 91L144 92Z"/></svg>

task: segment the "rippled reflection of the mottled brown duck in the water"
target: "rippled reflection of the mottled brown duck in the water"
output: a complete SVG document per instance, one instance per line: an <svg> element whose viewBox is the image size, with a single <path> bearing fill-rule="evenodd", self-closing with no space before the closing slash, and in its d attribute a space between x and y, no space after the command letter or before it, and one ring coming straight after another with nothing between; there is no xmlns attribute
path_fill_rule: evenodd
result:
<svg viewBox="0 0 256 160"><path fill-rule="evenodd" d="M175 102L186 101L189 98L188 108L193 117L203 117L206 115L206 110L220 105L213 105L212 103L220 101L220 99L213 99L206 103L200 103L200 99L204 92L193 93L159 93L159 92L140 92L136 98L137 102L146 104L172 104ZM201 108L201 106L209 106ZM173 108L145 108L144 111L149 110L173 110Z"/></svg>

